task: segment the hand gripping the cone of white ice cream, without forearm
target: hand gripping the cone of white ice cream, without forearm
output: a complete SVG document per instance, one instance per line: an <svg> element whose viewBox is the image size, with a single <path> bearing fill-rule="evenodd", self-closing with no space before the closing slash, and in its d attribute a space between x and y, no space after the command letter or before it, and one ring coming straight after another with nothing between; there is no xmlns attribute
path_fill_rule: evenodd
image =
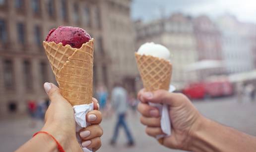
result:
<svg viewBox="0 0 256 152"><path fill-rule="evenodd" d="M146 125L146 133L156 137L163 134L160 126L160 114L156 107L148 102L165 103L169 105L169 114L172 123L172 135L163 139L163 145L168 148L189 150L193 132L199 127L202 116L183 94L169 93L165 90L138 93L138 111L142 114L140 121Z"/></svg>

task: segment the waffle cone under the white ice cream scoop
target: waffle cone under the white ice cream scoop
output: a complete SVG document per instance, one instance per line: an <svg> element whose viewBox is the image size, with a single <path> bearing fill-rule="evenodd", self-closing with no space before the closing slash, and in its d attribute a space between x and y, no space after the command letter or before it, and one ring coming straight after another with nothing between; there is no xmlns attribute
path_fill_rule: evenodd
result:
<svg viewBox="0 0 256 152"><path fill-rule="evenodd" d="M172 64L151 55L135 53L137 67L146 91L169 90Z"/></svg>

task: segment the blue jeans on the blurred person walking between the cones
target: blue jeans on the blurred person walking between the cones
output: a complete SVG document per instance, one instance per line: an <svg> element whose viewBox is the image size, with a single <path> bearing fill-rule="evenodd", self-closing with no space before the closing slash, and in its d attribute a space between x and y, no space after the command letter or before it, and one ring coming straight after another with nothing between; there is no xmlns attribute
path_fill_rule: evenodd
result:
<svg viewBox="0 0 256 152"><path fill-rule="evenodd" d="M118 133L119 133L119 127L121 127L121 126L123 126L124 129L125 129L128 141L133 142L130 131L129 131L128 126L127 126L126 121L125 121L125 113L122 113L122 114L118 115L118 121L117 121L115 130L114 130L114 135L113 135L112 141L116 142L117 137L118 137Z"/></svg>

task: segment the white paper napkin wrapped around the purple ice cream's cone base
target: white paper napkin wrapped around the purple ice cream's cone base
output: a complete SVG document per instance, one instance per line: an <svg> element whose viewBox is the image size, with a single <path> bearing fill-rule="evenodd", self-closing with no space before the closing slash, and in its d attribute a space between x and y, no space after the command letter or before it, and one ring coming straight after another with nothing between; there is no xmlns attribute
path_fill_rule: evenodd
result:
<svg viewBox="0 0 256 152"><path fill-rule="evenodd" d="M76 122L75 130L76 130L77 141L79 142L83 152L92 152L92 150L82 147L82 145L81 145L82 140L79 136L79 131L82 128L85 128L90 125L90 123L86 122L85 116L89 111L93 110L93 103L75 105L75 106L73 106L73 109L74 109L74 117L75 117L75 122Z"/></svg>

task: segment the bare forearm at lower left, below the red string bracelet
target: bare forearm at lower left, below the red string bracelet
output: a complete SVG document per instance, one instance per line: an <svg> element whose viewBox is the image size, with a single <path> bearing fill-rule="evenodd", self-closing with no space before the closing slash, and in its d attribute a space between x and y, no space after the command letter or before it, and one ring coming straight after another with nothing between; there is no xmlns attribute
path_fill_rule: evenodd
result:
<svg viewBox="0 0 256 152"><path fill-rule="evenodd" d="M55 141L47 134L38 134L16 152L59 152Z"/></svg>

